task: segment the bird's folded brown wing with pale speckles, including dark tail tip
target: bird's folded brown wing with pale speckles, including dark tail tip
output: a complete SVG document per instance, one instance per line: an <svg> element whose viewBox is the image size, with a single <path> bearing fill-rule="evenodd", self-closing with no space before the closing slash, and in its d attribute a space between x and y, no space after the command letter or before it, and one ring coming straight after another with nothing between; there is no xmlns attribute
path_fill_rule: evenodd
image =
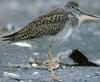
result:
<svg viewBox="0 0 100 82"><path fill-rule="evenodd" d="M3 36L4 41L16 42L25 39L39 38L42 36L56 35L63 29L67 13L63 9L55 9L46 15L40 16L24 28L11 35Z"/></svg>

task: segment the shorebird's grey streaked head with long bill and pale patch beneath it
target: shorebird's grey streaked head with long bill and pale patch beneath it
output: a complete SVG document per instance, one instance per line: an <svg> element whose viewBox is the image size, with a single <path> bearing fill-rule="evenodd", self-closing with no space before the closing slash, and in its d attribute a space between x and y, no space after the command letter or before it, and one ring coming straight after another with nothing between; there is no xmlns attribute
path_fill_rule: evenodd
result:
<svg viewBox="0 0 100 82"><path fill-rule="evenodd" d="M66 5L66 9L71 12L75 13L80 17L80 21L95 21L98 20L98 17L92 14L88 14L82 11L79 7L79 3L77 1L69 1Z"/></svg>

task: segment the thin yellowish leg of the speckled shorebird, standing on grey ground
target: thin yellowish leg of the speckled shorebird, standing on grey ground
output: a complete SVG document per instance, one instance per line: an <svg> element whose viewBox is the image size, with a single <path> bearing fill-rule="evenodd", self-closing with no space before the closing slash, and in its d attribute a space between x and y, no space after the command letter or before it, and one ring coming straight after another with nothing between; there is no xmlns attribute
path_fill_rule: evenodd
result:
<svg viewBox="0 0 100 82"><path fill-rule="evenodd" d="M50 66L50 69L51 69L51 76L52 76L52 79L53 80L58 80L58 78L56 77L55 73L54 73L54 70L53 70L53 67L52 67L52 53L51 53L51 45L49 46L48 48L48 60L49 60L49 66Z"/></svg>

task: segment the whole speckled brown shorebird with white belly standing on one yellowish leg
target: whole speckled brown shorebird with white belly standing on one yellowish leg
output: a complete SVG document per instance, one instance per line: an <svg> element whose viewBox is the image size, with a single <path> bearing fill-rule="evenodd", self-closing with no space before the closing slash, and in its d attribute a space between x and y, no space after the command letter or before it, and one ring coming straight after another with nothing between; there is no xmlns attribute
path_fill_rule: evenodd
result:
<svg viewBox="0 0 100 82"><path fill-rule="evenodd" d="M39 16L21 30L3 36L4 41L19 42L33 39L36 41L45 40L48 42L48 60L51 68L52 78L57 80L53 71L51 46L65 41L72 31L79 27L83 20L96 20L94 15L87 14L79 8L76 1L69 1L64 8L57 8L45 15ZM45 45L44 42L44 45Z"/></svg>

